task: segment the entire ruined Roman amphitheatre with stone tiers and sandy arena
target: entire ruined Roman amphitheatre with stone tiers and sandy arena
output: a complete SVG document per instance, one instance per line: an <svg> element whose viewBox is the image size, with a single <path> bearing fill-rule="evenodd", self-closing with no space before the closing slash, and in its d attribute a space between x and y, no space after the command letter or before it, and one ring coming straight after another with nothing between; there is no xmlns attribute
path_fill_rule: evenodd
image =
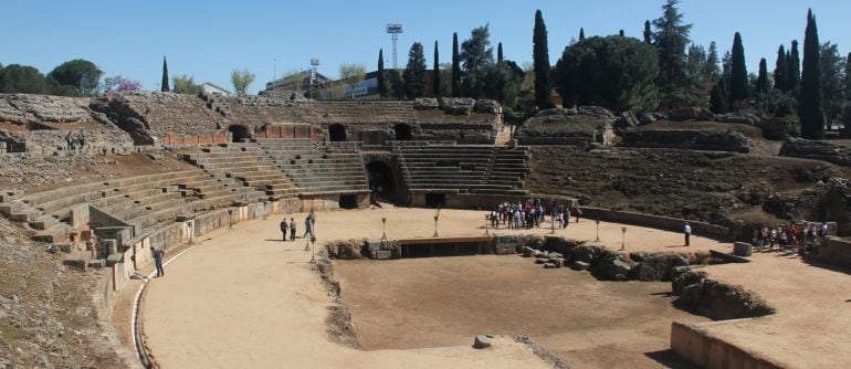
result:
<svg viewBox="0 0 851 369"><path fill-rule="evenodd" d="M0 95L0 366L851 367L847 143L701 108L512 128L470 98Z"/></svg>

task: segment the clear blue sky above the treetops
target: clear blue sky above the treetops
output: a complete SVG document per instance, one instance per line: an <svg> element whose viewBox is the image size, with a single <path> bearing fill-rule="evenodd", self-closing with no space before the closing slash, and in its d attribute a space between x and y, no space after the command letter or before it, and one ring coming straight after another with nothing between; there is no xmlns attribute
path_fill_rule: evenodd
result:
<svg viewBox="0 0 851 369"><path fill-rule="evenodd" d="M561 1L34 1L2 0L0 63L27 64L48 73L64 61L86 59L107 76L139 80L145 89L159 89L162 55L169 72L195 76L231 88L230 73L248 68L258 75L255 93L273 74L308 67L336 76L343 63L375 70L384 48L391 65L387 22L401 22L399 65L411 43L423 43L431 66L432 45L440 44L441 62L451 57L452 32L459 42L473 28L490 23L493 46L503 42L505 57L532 60L534 13L540 9L549 33L550 63L584 27L586 35L641 38L647 19L661 14L663 0ZM803 40L807 8L812 8L821 41L851 51L851 1L838 0L683 0L685 21L694 23L692 40L721 54L738 31L749 72L759 57L773 68L777 48Z"/></svg>

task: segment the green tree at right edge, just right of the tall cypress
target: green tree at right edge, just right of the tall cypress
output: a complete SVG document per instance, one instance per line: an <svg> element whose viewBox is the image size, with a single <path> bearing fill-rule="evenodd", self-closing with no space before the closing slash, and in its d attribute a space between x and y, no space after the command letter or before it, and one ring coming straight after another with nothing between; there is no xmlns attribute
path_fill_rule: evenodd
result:
<svg viewBox="0 0 851 369"><path fill-rule="evenodd" d="M839 54L837 44L826 42L820 50L821 92L824 96L824 114L828 123L842 115L845 104L844 70L845 60Z"/></svg>

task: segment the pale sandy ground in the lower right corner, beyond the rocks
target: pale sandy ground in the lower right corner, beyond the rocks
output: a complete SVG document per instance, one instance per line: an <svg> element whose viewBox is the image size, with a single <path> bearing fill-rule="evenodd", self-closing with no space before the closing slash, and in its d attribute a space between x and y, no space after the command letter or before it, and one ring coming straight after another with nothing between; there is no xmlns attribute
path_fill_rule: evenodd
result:
<svg viewBox="0 0 851 369"><path fill-rule="evenodd" d="M794 255L755 253L753 263L707 267L711 278L755 292L777 314L706 327L716 337L788 368L851 368L849 271Z"/></svg>

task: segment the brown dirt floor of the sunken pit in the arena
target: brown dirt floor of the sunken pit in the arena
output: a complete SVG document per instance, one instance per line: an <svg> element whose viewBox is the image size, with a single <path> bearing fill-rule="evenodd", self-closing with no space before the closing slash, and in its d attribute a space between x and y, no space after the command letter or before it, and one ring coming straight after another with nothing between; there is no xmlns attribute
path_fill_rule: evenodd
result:
<svg viewBox="0 0 851 369"><path fill-rule="evenodd" d="M670 283L598 282L514 255L338 261L334 275L369 350L522 334L570 368L683 367L671 321L708 320L675 309Z"/></svg>

